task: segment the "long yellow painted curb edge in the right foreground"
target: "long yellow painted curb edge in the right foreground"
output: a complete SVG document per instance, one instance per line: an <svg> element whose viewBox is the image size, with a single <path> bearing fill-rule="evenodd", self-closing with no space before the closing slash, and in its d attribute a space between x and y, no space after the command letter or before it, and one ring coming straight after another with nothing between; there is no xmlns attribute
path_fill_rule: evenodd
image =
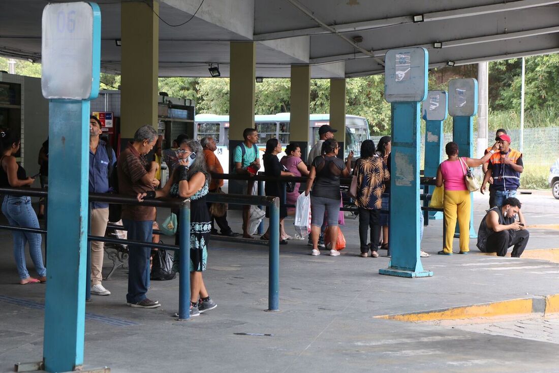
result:
<svg viewBox="0 0 559 373"><path fill-rule="evenodd" d="M559 313L559 294L548 295L545 298L519 298L484 304L458 306L440 310L379 315L373 318L405 322L429 322L439 320L502 317L506 315L527 315L531 313L544 313L544 315Z"/></svg>

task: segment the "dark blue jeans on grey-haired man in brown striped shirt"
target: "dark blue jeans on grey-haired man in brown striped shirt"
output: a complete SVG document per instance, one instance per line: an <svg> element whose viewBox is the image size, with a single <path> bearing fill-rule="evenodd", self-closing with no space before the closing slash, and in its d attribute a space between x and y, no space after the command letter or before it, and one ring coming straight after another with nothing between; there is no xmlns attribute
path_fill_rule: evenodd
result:
<svg viewBox="0 0 559 373"><path fill-rule="evenodd" d="M128 239L151 242L153 221L122 219L128 230ZM146 298L149 288L149 257L151 248L148 246L128 245L128 294L127 303L138 303Z"/></svg>

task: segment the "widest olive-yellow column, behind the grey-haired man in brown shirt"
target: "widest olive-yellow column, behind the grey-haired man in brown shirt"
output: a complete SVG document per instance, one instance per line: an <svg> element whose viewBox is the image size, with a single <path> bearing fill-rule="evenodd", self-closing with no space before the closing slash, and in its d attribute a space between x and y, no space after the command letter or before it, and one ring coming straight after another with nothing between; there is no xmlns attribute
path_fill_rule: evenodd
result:
<svg viewBox="0 0 559 373"><path fill-rule="evenodd" d="M157 129L159 3L121 3L120 133L123 139L150 124ZM153 11L150 6L153 6Z"/></svg>

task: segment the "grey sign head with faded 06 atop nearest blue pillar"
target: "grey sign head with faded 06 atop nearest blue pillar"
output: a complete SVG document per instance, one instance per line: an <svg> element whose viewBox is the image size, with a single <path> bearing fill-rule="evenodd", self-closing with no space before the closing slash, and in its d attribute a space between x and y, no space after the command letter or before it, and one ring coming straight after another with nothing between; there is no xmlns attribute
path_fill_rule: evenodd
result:
<svg viewBox="0 0 559 373"><path fill-rule="evenodd" d="M48 4L42 12L42 95L96 98L100 46L101 11L96 3Z"/></svg>

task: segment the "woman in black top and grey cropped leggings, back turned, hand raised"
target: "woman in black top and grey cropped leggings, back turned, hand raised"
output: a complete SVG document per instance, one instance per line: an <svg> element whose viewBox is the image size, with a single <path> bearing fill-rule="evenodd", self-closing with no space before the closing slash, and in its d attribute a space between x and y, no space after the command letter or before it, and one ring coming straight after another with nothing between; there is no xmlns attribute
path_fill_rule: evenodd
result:
<svg viewBox="0 0 559 373"><path fill-rule="evenodd" d="M338 242L338 214L340 212L340 177L348 177L351 169L353 152L349 153L347 162L338 158L340 147L338 141L328 139L322 144L322 155L312 160L309 180L305 195L311 194L311 255L320 255L318 238L320 227L324 222L324 213L328 213L330 243ZM312 188L312 185L315 185ZM312 192L311 192L312 188ZM327 247L328 249L328 247ZM330 256L340 253L330 244Z"/></svg>

